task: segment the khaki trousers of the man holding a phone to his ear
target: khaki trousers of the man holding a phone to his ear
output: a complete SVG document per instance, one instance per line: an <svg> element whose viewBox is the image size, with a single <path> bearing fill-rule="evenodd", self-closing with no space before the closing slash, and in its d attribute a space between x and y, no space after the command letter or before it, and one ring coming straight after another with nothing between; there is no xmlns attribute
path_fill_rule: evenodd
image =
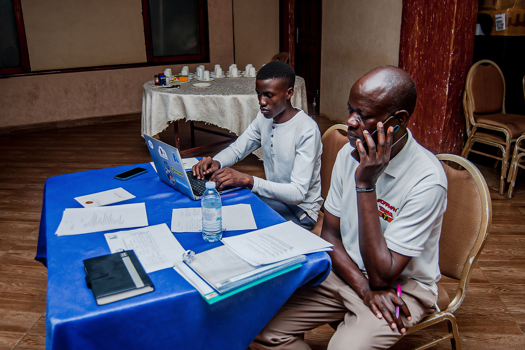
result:
<svg viewBox="0 0 525 350"><path fill-rule="evenodd" d="M406 326L434 313L437 297L432 292L404 277L395 281L395 289L397 284L401 284L401 298L412 314L412 321L402 316ZM393 330L384 318L378 319L332 270L320 285L298 288L251 343L250 349L309 350L301 334L339 320L343 322L332 336L329 350L387 349L401 337L397 328Z"/></svg>

